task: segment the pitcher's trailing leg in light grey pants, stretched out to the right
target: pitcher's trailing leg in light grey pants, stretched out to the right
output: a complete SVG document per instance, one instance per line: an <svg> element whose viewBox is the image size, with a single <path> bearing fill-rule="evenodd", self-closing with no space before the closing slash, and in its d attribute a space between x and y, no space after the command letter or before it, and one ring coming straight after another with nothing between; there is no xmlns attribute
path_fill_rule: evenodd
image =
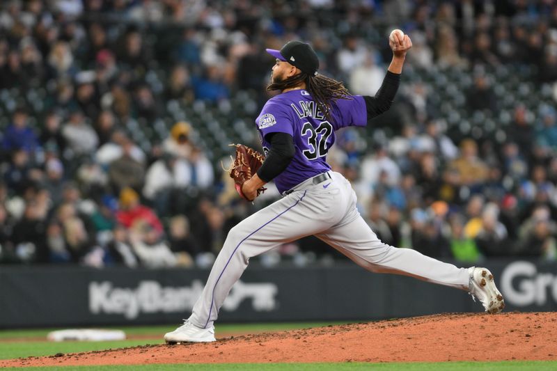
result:
<svg viewBox="0 0 557 371"><path fill-rule="evenodd" d="M466 268L425 256L409 248L396 248L381 242L361 216L317 235L356 264L377 273L402 274L423 281L468 290Z"/></svg>

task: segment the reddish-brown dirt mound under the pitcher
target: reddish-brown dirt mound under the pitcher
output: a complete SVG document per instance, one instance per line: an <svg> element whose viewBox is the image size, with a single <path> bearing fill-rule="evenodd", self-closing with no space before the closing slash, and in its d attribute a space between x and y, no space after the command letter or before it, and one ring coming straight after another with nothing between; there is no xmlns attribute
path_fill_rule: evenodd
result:
<svg viewBox="0 0 557 371"><path fill-rule="evenodd" d="M444 314L0 361L1 367L145 363L557 360L557 313ZM217 326L218 331L218 326ZM218 335L218 334L217 334Z"/></svg>

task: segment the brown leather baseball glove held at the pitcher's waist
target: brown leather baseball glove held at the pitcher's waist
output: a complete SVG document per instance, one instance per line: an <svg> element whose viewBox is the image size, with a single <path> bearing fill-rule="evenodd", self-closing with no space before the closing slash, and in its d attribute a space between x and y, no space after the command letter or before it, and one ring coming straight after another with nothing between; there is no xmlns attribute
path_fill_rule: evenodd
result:
<svg viewBox="0 0 557 371"><path fill-rule="evenodd" d="M263 157L260 152L254 150L253 148L249 148L247 145L230 145L236 147L236 158L234 159L232 166L230 166L230 169L228 169L228 174L234 180L236 191L240 197L244 198L244 200L248 200L248 198L244 195L244 192L242 192L242 185L246 182L246 180L249 180L253 174L256 173L256 171L258 171L263 164L263 161L265 161L265 157ZM267 188L261 187L257 190L257 195L259 196L266 190Z"/></svg>

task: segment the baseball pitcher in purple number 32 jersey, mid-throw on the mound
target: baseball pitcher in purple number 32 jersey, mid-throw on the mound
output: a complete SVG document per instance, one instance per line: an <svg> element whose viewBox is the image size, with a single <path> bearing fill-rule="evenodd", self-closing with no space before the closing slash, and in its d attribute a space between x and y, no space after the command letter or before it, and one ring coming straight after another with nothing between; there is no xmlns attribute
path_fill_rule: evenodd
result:
<svg viewBox="0 0 557 371"><path fill-rule="evenodd" d="M281 50L267 49L276 58L267 90L280 90L281 94L272 97L256 119L266 156L256 168L249 164L257 161L237 158L230 174L236 177L237 191L246 200L255 199L271 180L283 198L230 230L191 316L166 333L166 342L214 341L213 322L249 258L308 235L322 239L369 271L456 287L477 297L489 313L503 309L503 297L487 269L457 268L381 242L356 210L350 182L327 164L336 130L372 124L373 118L391 106L412 42L400 32L389 38L389 45L393 58L375 97L350 95L342 82L320 74L317 55L304 42L290 41ZM239 175L243 175L240 180Z"/></svg>

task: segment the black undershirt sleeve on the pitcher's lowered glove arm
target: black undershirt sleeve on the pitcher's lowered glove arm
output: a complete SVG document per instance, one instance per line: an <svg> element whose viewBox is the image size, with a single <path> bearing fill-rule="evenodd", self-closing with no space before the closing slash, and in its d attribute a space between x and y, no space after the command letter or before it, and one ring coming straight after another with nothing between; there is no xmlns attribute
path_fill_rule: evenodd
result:
<svg viewBox="0 0 557 371"><path fill-rule="evenodd" d="M294 138L286 133L269 133L265 139L271 143L271 150L267 153L265 161L257 171L263 182L270 182L276 175L285 171L290 161L294 158L296 148Z"/></svg>

